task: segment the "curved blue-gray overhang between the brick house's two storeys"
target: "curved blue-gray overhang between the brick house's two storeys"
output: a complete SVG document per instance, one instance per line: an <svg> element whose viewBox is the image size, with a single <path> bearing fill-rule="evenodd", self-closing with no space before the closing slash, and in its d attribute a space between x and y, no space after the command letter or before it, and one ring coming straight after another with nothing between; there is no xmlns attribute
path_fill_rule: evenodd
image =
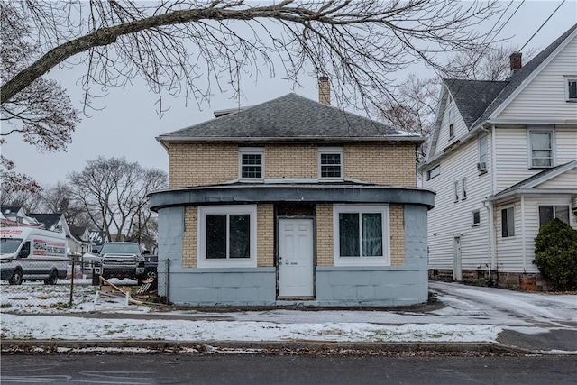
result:
<svg viewBox="0 0 577 385"><path fill-rule="evenodd" d="M435 193L428 188L380 185L332 184L237 184L175 188L149 195L151 210L170 206L239 205L254 203L397 203L435 206Z"/></svg>

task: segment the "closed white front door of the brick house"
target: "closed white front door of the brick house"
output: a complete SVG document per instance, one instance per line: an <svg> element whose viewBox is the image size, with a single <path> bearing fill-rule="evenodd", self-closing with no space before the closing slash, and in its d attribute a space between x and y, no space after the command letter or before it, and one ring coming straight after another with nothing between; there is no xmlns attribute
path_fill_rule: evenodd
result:
<svg viewBox="0 0 577 385"><path fill-rule="evenodd" d="M312 219L279 219L279 297L313 297Z"/></svg>

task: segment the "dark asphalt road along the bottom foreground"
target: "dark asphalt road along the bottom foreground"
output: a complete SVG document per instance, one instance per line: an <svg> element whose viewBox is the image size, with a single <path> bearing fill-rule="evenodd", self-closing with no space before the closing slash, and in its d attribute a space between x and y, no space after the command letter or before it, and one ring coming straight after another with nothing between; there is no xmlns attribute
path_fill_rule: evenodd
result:
<svg viewBox="0 0 577 385"><path fill-rule="evenodd" d="M8 384L575 384L577 356L6 355Z"/></svg>

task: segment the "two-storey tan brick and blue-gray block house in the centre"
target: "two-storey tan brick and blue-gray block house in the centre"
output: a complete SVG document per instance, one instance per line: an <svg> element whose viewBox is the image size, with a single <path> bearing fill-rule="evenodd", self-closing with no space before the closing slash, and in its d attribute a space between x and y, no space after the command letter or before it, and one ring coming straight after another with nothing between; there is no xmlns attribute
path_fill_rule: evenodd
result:
<svg viewBox="0 0 577 385"><path fill-rule="evenodd" d="M330 100L328 79L319 94ZM172 303L402 306L427 300L418 136L289 94L160 135L152 193Z"/></svg>

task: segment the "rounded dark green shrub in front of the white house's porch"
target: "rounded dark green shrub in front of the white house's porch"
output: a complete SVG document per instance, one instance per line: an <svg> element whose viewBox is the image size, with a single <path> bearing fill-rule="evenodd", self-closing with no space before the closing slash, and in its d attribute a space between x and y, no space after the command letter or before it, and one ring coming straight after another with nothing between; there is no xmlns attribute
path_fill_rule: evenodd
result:
<svg viewBox="0 0 577 385"><path fill-rule="evenodd" d="M533 263L551 289L577 289L577 230L557 218L541 227Z"/></svg>

